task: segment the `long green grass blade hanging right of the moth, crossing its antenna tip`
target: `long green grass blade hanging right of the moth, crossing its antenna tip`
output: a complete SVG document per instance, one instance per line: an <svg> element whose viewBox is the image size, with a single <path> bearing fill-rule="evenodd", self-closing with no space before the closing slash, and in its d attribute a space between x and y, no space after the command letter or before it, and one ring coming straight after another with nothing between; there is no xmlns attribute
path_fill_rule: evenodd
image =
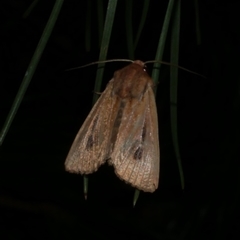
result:
<svg viewBox="0 0 240 240"><path fill-rule="evenodd" d="M180 1L176 1L174 8L173 25L171 32L171 63L178 65L179 35L180 35ZM178 68L170 67L170 115L173 146L177 158L181 186L184 189L184 175L182 170L181 156L178 143L177 131L177 90L178 90Z"/></svg>

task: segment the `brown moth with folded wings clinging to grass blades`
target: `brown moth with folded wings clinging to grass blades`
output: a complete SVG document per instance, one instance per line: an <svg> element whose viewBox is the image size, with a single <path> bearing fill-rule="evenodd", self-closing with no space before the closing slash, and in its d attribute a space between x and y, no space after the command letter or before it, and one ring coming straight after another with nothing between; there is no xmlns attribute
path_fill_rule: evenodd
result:
<svg viewBox="0 0 240 240"><path fill-rule="evenodd" d="M158 187L160 149L153 81L136 60L116 71L80 128L65 161L89 174L105 162L144 192Z"/></svg>

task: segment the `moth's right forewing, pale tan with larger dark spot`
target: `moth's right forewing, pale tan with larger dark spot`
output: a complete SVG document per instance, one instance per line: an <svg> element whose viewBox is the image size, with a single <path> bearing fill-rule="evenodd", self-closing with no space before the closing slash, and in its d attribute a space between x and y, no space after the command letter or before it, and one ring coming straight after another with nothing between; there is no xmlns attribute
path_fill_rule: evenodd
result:
<svg viewBox="0 0 240 240"><path fill-rule="evenodd" d="M130 114L121 121L109 161L120 179L139 190L154 192L158 187L160 159L156 106L150 102L153 93L149 91L131 111L126 106L123 115Z"/></svg>

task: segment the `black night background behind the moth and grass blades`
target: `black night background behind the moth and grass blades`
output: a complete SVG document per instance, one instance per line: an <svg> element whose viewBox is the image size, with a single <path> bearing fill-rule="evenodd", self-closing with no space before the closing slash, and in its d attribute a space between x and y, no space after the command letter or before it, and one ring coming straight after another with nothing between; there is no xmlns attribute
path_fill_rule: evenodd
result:
<svg viewBox="0 0 240 240"><path fill-rule="evenodd" d="M151 1L136 59L153 60L168 1ZM54 1L1 1L0 126L2 127ZM107 1L103 1L106 9ZM134 30L142 1L133 1ZM178 128L185 176L181 190L170 129L169 68L162 66L157 106L161 146L159 188L141 193L112 167L83 179L64 161L92 106L98 59L96 2L65 1L20 109L0 148L0 239L239 239L239 1L199 1L201 44L193 1L182 1ZM91 14L91 25L86 17ZM128 58L125 1L119 1L108 59ZM85 47L86 28L91 32ZM169 38L170 39L170 38ZM164 61L169 61L169 40ZM104 84L126 63L107 64ZM151 73L151 66L148 66Z"/></svg>

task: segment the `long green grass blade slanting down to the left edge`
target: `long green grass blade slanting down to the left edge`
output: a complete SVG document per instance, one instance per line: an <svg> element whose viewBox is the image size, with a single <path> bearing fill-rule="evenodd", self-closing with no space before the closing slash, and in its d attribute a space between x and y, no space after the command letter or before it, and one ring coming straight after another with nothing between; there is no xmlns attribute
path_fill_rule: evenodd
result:
<svg viewBox="0 0 240 240"><path fill-rule="evenodd" d="M25 72L25 75L24 75L24 78L22 80L22 83L21 83L21 86L18 90L18 93L14 99L14 102L13 102L13 105L10 109L10 112L7 116L7 119L4 123L4 126L1 130L1 133L0 133L0 145L2 145L3 143L3 140L11 126L11 123L18 111L18 108L22 102L22 99L25 95L25 92L28 88L28 85L33 77L33 74L35 73L35 70L37 68L37 65L41 59L41 56L42 56L42 53L43 53L43 50L45 49L45 46L48 42L48 39L52 33L52 30L53 30L53 27L56 23L56 20L58 18L58 14L61 10L61 7L62 7L62 4L63 4L63 0L56 0L55 2L55 5L53 7L53 10L52 10L52 13L48 19L48 22L46 24L46 27L43 31L43 34L39 40L39 43L37 45L37 48L33 54L33 57L28 65L28 68L27 68L27 71Z"/></svg>

